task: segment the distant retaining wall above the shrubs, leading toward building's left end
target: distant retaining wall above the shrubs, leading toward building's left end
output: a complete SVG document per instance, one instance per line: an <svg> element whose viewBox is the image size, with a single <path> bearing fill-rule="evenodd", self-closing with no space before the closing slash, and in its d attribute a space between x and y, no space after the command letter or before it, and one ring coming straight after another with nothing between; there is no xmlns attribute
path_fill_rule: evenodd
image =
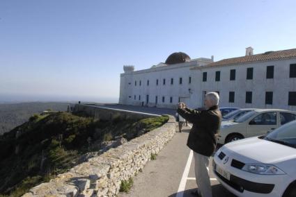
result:
<svg viewBox="0 0 296 197"><path fill-rule="evenodd" d="M104 105L87 105L87 104L75 104L73 112L84 112L97 119L110 121L112 119L146 119L150 117L159 117L156 114L148 114L143 112L132 112L128 110L119 110L106 108Z"/></svg>

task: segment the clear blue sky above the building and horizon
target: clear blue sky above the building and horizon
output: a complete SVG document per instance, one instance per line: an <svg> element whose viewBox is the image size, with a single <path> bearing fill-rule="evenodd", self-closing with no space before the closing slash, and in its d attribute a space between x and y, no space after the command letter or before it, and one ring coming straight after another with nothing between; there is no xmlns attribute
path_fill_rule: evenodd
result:
<svg viewBox="0 0 296 197"><path fill-rule="evenodd" d="M1 0L0 101L117 101L123 65L147 69L176 51L221 60L247 46L293 49L295 8L295 0Z"/></svg>

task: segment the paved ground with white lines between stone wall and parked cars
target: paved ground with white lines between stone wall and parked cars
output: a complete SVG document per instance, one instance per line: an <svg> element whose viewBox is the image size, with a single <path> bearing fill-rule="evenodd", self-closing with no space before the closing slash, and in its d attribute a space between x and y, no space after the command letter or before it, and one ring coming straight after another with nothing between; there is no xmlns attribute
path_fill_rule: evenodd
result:
<svg viewBox="0 0 296 197"><path fill-rule="evenodd" d="M196 188L194 159L189 157L190 149L186 146L189 128L177 132L173 139L159 152L156 160L151 160L143 172L134 178L130 193L118 196L192 196L190 191ZM222 187L212 174L212 157L210 160L210 178L213 196L234 197ZM188 167L186 167L188 166Z"/></svg>

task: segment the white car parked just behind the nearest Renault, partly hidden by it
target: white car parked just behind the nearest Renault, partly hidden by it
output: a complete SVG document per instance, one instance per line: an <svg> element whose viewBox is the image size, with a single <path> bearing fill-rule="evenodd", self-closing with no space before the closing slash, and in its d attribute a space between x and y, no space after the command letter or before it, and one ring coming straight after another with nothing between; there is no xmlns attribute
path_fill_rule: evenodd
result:
<svg viewBox="0 0 296 197"><path fill-rule="evenodd" d="M254 110L234 121L222 121L217 137L218 144L226 144L246 137L266 135L279 126L296 119L288 110Z"/></svg>

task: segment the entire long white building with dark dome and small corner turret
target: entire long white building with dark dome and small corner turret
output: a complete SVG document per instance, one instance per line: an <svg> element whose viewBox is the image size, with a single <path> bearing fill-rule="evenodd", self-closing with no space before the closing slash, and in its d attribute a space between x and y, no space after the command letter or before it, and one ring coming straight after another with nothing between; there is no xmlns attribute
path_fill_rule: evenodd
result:
<svg viewBox="0 0 296 197"><path fill-rule="evenodd" d="M296 110L296 49L253 55L248 47L245 56L217 62L179 52L150 69L123 69L119 103L124 105L176 108L184 101L199 108L206 92L219 92L220 106Z"/></svg>

